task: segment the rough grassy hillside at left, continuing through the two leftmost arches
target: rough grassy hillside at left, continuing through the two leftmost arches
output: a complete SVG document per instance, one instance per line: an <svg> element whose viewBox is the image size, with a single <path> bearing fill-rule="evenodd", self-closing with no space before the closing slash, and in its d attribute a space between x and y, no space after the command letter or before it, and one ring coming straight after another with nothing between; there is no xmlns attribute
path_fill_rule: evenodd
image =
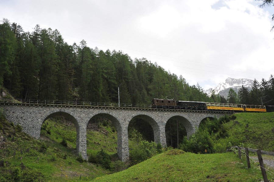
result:
<svg viewBox="0 0 274 182"><path fill-rule="evenodd" d="M21 130L18 125L14 126L0 117L0 160L4 161L4 166L0 167L0 181L75 181L80 177L81 180L90 180L114 172L95 163L77 160L76 129L64 119L48 119L42 125L39 140ZM117 160L116 132L102 124L97 125L95 130L88 130L88 153L96 153L103 148ZM66 147L60 144L63 138L67 141Z"/></svg>

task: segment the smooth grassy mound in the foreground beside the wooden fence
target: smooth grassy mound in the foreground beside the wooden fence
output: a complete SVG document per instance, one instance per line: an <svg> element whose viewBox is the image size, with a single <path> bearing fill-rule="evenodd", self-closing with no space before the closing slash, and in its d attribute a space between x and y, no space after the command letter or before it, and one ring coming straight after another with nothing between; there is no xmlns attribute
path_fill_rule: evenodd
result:
<svg viewBox="0 0 274 182"><path fill-rule="evenodd" d="M234 153L194 154L173 149L93 181L258 181L262 176L255 167L247 170Z"/></svg>

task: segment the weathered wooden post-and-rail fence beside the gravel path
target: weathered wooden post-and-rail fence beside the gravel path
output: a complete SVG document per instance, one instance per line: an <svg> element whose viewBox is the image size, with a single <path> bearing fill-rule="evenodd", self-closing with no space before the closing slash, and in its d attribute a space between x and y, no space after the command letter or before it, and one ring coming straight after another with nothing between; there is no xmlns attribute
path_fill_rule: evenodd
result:
<svg viewBox="0 0 274 182"><path fill-rule="evenodd" d="M248 169L250 168L250 160L249 160L248 151L257 153L259 164L260 164L261 171L262 171L263 179L264 179L265 182L266 181L268 182L269 180L267 179L267 176L266 176L266 171L265 171L265 166L264 166L264 162L263 162L263 159L262 159L262 154L269 155L269 156L274 156L274 152L268 152L268 151L264 151L264 150L260 150L260 149L250 149L248 147L239 147L239 146L234 146L234 147L238 149L238 154L239 154L240 159L242 159L241 150L244 150Z"/></svg>

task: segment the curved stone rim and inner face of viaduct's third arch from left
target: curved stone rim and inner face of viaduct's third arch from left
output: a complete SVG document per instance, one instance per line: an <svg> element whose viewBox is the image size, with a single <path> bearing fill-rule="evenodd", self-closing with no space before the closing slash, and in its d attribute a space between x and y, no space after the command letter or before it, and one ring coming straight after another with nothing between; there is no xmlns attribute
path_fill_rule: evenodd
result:
<svg viewBox="0 0 274 182"><path fill-rule="evenodd" d="M147 112L137 112L137 113L131 115L131 116L126 120L126 130L128 130L129 122L130 122L134 117L136 117L136 116L137 116L137 117L140 116L140 118L144 118L143 116L145 116L145 119L148 119L148 120L146 120L146 121L149 123L149 125L151 125L151 127L152 127L152 129L153 129L154 142L156 142L156 143L161 143L161 141L160 141L160 126L159 126L159 124L158 124L158 122L157 122L157 119L156 119L153 115L151 115L151 114L149 114L149 113L147 113Z"/></svg>

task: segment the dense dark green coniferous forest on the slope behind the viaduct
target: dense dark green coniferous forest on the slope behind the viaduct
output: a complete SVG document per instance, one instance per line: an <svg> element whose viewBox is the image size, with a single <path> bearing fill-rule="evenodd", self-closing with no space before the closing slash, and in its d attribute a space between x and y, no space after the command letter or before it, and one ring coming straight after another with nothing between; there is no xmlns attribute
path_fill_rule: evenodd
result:
<svg viewBox="0 0 274 182"><path fill-rule="evenodd" d="M184 73L182 73L184 74ZM0 23L0 87L15 98L150 104L153 98L261 105L274 98L274 78L255 79L252 91L230 91L228 99L214 91L207 96L182 75L164 70L146 58L132 59L121 50L90 48L85 40L68 45L55 29L24 32L17 23ZM274 100L268 105L274 105Z"/></svg>

